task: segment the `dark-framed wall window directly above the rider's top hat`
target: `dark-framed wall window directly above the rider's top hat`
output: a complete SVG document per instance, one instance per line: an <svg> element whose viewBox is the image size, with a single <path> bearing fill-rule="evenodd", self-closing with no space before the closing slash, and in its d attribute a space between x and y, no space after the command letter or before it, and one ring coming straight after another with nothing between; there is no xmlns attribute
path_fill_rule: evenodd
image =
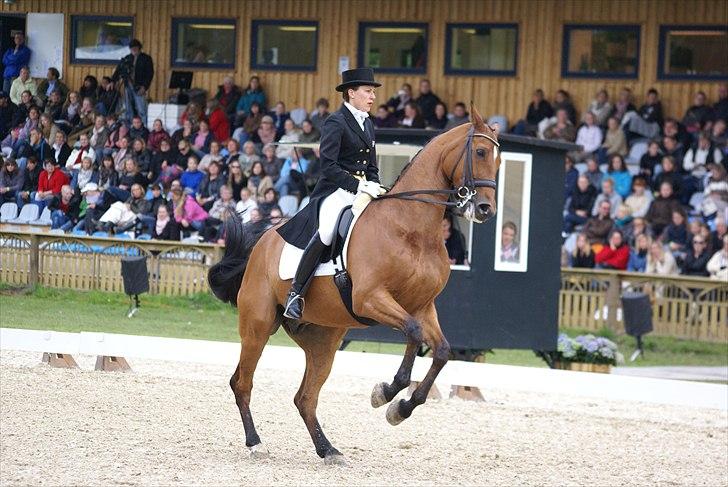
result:
<svg viewBox="0 0 728 487"><path fill-rule="evenodd" d="M427 24L360 23L357 57L380 73L425 73Z"/></svg>

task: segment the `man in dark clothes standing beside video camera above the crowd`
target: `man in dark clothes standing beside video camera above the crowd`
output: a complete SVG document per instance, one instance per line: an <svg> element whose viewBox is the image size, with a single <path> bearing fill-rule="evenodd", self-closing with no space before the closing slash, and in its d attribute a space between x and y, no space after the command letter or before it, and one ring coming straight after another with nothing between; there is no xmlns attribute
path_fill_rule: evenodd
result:
<svg viewBox="0 0 728 487"><path fill-rule="evenodd" d="M126 92L126 115L131 121L139 115L142 122L147 121L147 91L154 78L152 57L142 52L142 43L132 39L129 43L131 54L124 56L116 66L112 80L123 83Z"/></svg>

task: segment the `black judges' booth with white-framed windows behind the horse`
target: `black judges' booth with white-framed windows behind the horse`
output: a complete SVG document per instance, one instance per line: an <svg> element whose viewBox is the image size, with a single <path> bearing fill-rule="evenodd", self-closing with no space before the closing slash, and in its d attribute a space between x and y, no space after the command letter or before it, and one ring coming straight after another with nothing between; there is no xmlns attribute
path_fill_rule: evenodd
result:
<svg viewBox="0 0 728 487"><path fill-rule="evenodd" d="M386 154L388 144L422 146L436 134L378 130L377 153ZM564 156L577 146L510 134L499 142L498 214L482 224L458 219L469 265L452 266L436 301L440 324L454 350L552 351L558 336ZM380 158L380 171L383 183L391 184L406 161L388 170L386 157ZM404 336L376 326L351 330L346 340L401 343Z"/></svg>

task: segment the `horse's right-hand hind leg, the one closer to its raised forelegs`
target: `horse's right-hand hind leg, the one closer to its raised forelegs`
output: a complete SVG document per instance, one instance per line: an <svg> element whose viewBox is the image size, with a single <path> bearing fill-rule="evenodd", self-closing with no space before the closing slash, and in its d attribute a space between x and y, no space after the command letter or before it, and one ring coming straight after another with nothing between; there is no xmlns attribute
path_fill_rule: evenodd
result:
<svg viewBox="0 0 728 487"><path fill-rule="evenodd" d="M345 333L345 328L329 328L310 324L297 333L290 334L291 338L306 352L306 372L293 402L311 435L316 447L316 454L327 464L344 463L344 457L324 435L316 418L316 406L321 386L324 385L331 372L334 355Z"/></svg>

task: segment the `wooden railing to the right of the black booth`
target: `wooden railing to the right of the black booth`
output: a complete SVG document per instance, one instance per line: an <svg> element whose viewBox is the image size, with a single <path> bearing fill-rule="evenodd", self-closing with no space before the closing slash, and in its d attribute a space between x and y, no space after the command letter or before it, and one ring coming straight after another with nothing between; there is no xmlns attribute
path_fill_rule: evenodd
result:
<svg viewBox="0 0 728 487"><path fill-rule="evenodd" d="M559 326L623 331L625 291L650 296L654 335L728 341L728 283L698 277L562 269Z"/></svg>

